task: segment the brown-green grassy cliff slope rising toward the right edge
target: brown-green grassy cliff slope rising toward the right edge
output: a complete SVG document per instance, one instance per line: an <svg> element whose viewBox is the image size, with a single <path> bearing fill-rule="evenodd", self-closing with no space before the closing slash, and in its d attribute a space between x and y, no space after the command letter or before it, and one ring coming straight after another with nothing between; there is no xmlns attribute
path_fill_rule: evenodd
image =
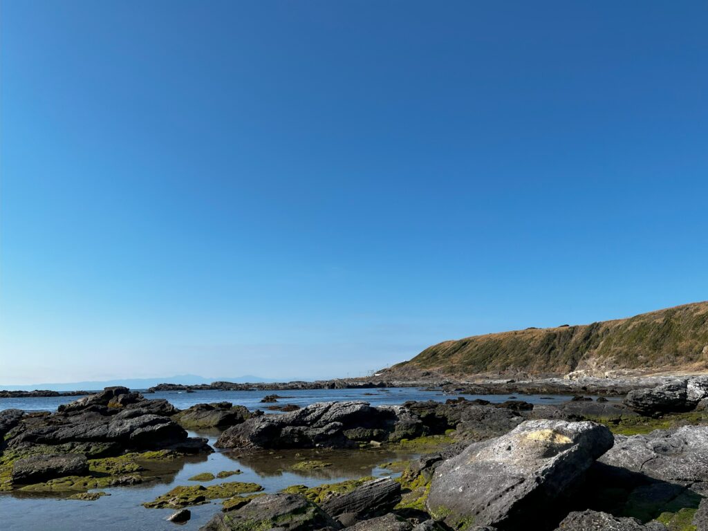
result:
<svg viewBox="0 0 708 531"><path fill-rule="evenodd" d="M433 370L460 377L682 368L708 368L708 302L628 319L443 341L390 371Z"/></svg>

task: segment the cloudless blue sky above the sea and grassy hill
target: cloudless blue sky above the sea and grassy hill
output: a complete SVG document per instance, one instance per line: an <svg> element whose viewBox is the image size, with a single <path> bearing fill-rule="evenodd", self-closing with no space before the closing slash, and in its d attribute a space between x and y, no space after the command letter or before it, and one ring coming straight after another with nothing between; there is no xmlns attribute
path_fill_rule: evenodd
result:
<svg viewBox="0 0 708 531"><path fill-rule="evenodd" d="M359 375L708 299L707 27L3 0L0 384Z"/></svg>

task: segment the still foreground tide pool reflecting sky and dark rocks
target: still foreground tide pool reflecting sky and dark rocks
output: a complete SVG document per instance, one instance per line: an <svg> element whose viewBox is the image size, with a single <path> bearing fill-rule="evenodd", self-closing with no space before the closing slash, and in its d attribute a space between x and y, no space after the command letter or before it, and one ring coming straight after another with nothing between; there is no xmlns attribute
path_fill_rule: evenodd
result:
<svg viewBox="0 0 708 531"><path fill-rule="evenodd" d="M209 438L216 442L218 433L198 432L192 436ZM176 530L166 518L171 509L146 509L140 504L170 491L178 485L195 485L189 478L202 472L216 475L225 470L240 469L243 473L227 479L200 481L203 485L227 481L253 482L262 485L265 492L277 492L290 485L316 486L362 476L389 475L377 465L413 457L411 454L389 450L282 450L263 452L215 452L198 457L185 457L169 462L145 462L145 472L151 481L130 487L102 489L111 496L97 501L62 499L62 496L37 493L0 494L1 529L3 531L135 531ZM302 460L318 460L329 466L314 470L297 470L292 466ZM212 515L221 510L221 502L190 507L192 519L179 529L198 530Z"/></svg>

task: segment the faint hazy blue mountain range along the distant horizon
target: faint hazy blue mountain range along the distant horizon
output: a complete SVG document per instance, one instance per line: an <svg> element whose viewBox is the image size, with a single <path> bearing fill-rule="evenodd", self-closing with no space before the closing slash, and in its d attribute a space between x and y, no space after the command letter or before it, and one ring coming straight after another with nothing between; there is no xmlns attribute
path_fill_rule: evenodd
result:
<svg viewBox="0 0 708 531"><path fill-rule="evenodd" d="M115 385L123 385L129 387L130 389L147 389L148 387L153 387L157 384L210 384L212 382L234 382L234 383L250 383L250 382L280 382L278 379L268 379L262 378L260 376L239 376L236 378L205 378L197 375L179 375L171 377L158 377L158 378L124 378L124 379L111 379L101 382L91 381L91 382L70 382L67 384L27 384L27 385L3 385L0 384L0 389L7 391L24 391L33 389L47 389L50 391L94 391L96 389L103 389L103 387L112 387Z"/></svg>

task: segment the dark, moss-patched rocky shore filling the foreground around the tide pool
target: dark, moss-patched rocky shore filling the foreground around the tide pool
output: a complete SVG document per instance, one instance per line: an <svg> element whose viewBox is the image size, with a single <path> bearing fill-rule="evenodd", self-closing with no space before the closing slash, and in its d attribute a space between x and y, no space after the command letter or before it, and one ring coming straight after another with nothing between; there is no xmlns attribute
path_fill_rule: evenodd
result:
<svg viewBox="0 0 708 531"><path fill-rule="evenodd" d="M183 522L190 506L222 500L205 531L708 529L708 377L614 382L602 386L605 394L627 392L609 402L581 396L603 394L589 381L507 381L503 391L491 385L445 383L457 397L444 404L323 402L278 414L229 402L178 411L164 399L110 387L55 413L0 411L0 491L95 501L102 495L96 489L152 481L152 469L185 456L206 459L212 447L186 430L211 429L220 434L217 449L243 455L395 448L421 457L382 464L396 478L280 493L232 481L239 471L225 470L222 483L177 486L146 508L173 508L172 521ZM464 397L484 394L480 389L564 389L578 399L491 404ZM302 457L290 466L328 463Z"/></svg>

